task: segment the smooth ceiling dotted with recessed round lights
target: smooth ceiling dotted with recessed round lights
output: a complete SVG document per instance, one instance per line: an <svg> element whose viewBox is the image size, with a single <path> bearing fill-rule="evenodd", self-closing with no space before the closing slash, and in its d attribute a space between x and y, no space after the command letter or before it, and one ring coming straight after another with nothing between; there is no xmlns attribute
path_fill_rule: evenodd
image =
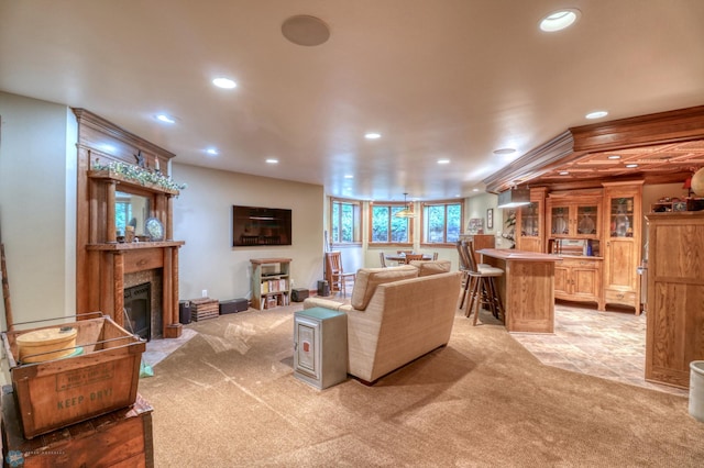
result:
<svg viewBox="0 0 704 468"><path fill-rule="evenodd" d="M561 8L579 22L541 32ZM295 14L329 41L285 40ZM704 1L0 0L0 90L85 108L177 163L359 199L468 197L587 112L703 104Z"/></svg>

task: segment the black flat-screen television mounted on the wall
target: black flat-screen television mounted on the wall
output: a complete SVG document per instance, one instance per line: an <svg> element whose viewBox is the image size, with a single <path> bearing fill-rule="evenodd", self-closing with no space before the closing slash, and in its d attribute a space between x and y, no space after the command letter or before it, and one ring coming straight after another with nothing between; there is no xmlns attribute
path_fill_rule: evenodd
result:
<svg viewBox="0 0 704 468"><path fill-rule="evenodd" d="M290 245L290 210L232 207L232 246Z"/></svg>

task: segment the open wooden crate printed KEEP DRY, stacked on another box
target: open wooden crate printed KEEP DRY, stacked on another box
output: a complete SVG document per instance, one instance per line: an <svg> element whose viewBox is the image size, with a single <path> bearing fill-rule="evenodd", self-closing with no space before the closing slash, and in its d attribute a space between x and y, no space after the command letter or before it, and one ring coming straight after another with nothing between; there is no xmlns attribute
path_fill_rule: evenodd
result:
<svg viewBox="0 0 704 468"><path fill-rule="evenodd" d="M52 326L2 333L26 438L129 406L136 398L145 341L107 315L62 326L77 328L76 345L82 354L44 363L19 363L16 337Z"/></svg>

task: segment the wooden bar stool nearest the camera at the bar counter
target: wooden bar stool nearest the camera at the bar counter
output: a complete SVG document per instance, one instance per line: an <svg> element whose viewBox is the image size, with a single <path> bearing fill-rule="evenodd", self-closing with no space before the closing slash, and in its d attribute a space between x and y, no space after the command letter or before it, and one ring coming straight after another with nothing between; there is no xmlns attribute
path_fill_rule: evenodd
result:
<svg viewBox="0 0 704 468"><path fill-rule="evenodd" d="M502 302L502 297L496 286L496 278L504 276L504 270L491 265L476 265L474 261L474 244L472 242L463 242L462 247L465 250L471 267L468 281L470 301L464 315L469 317L472 314L472 309L475 308L474 321L472 323L476 325L482 305L487 305L492 315L504 321L504 303Z"/></svg>

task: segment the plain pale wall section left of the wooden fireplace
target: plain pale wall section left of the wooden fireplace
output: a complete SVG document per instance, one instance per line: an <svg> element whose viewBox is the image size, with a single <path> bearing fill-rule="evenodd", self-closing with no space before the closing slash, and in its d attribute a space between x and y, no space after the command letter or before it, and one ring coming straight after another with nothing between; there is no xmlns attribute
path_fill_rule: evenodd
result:
<svg viewBox="0 0 704 468"><path fill-rule="evenodd" d="M0 229L14 323L76 310L76 142L70 109L0 92ZM4 303L2 327L4 321Z"/></svg>

